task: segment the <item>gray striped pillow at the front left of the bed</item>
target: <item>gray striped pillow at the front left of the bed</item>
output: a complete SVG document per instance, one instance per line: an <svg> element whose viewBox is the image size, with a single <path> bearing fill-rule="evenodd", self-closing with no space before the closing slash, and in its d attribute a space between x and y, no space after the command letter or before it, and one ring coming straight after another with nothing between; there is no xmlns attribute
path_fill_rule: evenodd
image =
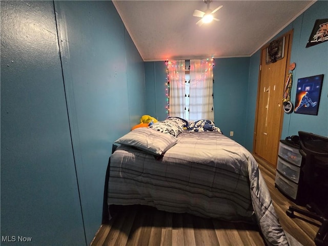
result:
<svg viewBox="0 0 328 246"><path fill-rule="evenodd" d="M133 146L153 155L163 155L176 141L177 139L169 134L142 127L120 137L115 143Z"/></svg>

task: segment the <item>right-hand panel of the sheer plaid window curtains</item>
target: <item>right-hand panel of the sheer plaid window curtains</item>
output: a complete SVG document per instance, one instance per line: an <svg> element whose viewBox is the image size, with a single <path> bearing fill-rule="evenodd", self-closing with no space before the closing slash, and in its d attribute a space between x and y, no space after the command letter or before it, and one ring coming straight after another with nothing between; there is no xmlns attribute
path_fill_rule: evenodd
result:
<svg viewBox="0 0 328 246"><path fill-rule="evenodd" d="M190 60L189 119L214 121L213 60Z"/></svg>

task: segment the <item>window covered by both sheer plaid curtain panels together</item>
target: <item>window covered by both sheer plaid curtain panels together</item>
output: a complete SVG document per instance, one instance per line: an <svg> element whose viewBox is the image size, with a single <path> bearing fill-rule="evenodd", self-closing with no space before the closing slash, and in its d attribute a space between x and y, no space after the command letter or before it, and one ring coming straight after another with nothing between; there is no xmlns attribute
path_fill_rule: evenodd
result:
<svg viewBox="0 0 328 246"><path fill-rule="evenodd" d="M169 115L188 120L209 119L213 112L213 59L168 62Z"/></svg>

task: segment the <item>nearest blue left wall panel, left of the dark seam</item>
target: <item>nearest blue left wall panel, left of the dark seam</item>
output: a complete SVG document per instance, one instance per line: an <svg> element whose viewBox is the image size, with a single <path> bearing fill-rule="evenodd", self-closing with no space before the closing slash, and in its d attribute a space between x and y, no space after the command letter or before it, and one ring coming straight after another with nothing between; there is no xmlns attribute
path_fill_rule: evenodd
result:
<svg viewBox="0 0 328 246"><path fill-rule="evenodd" d="M86 244L50 1L1 1L1 237L6 236L1 245ZM31 237L31 243L18 236Z"/></svg>

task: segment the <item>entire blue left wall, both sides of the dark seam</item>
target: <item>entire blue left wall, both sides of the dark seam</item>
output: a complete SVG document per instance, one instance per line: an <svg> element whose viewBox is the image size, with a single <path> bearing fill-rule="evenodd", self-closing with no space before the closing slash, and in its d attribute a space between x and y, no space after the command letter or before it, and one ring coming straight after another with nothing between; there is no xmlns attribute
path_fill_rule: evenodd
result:
<svg viewBox="0 0 328 246"><path fill-rule="evenodd" d="M112 144L146 112L144 62L110 1L1 7L1 236L89 244Z"/></svg>

